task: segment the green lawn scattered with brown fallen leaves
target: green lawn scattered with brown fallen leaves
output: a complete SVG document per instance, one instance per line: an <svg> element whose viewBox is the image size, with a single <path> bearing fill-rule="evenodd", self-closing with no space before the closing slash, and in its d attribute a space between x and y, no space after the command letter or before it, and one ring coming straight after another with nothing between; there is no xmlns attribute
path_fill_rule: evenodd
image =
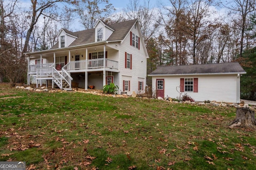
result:
<svg viewBox="0 0 256 170"><path fill-rule="evenodd" d="M5 84L0 102L0 161L26 161L40 170L255 168L256 133L228 128L233 107L28 92Z"/></svg>

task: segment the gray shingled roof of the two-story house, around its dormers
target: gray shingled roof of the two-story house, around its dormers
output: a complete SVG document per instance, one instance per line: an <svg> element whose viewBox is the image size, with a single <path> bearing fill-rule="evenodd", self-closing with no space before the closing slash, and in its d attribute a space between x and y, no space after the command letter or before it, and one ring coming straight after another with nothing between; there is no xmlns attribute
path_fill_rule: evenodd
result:
<svg viewBox="0 0 256 170"><path fill-rule="evenodd" d="M114 24L106 24L115 31L110 35L110 37L107 39L107 41L118 41L118 40L123 40L125 36L129 33L130 29L134 25L134 23L137 21L135 20L130 20L130 21L124 21L120 23L114 23ZM105 23L105 22L104 22ZM64 29L64 31L70 35L74 35L78 37L75 41L73 41L69 47L76 46L76 45L84 45L84 44L89 44L89 43L94 43L95 42L95 29L87 29L84 31L77 31L77 32L71 32L68 31L67 29ZM59 45L56 43L51 49L58 49Z"/></svg>

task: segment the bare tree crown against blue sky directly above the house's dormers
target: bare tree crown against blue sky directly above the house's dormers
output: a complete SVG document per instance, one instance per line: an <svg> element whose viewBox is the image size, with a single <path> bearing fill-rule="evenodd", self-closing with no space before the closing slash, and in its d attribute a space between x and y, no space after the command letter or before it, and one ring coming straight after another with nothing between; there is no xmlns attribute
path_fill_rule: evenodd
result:
<svg viewBox="0 0 256 170"><path fill-rule="evenodd" d="M116 10L108 0L81 0L75 3L75 8L85 29L93 28L98 19L108 21Z"/></svg>

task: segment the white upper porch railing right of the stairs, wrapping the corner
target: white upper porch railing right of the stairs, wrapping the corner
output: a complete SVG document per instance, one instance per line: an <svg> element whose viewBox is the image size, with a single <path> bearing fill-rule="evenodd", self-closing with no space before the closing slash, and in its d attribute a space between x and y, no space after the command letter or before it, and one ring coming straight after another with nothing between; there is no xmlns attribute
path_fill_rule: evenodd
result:
<svg viewBox="0 0 256 170"><path fill-rule="evenodd" d="M118 69L118 61L105 59L105 68ZM63 67L65 70L84 70L93 68L104 68L104 59L91 59L81 61L70 61Z"/></svg>

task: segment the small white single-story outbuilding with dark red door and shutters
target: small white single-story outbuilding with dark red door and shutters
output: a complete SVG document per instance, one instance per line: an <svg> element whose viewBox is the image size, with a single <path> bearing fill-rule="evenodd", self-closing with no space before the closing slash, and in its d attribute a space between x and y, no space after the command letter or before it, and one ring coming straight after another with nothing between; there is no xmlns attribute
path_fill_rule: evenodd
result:
<svg viewBox="0 0 256 170"><path fill-rule="evenodd" d="M151 72L156 97L179 98L187 94L195 101L240 103L239 63L160 66Z"/></svg>

